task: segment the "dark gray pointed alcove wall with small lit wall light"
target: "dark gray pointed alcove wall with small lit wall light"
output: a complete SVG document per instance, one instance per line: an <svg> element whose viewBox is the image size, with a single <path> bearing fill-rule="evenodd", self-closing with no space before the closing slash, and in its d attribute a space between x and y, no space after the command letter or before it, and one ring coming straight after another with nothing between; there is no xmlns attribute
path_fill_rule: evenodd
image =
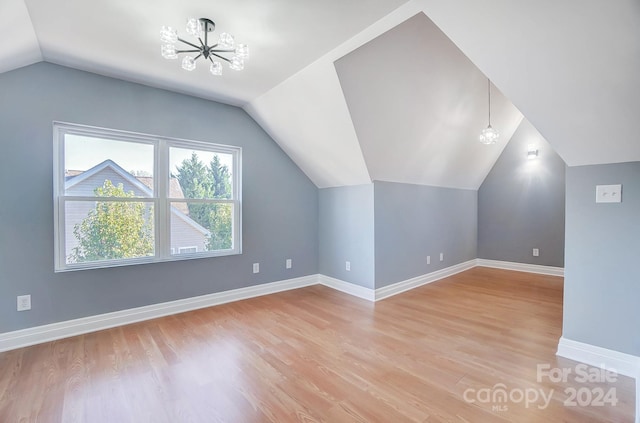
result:
<svg viewBox="0 0 640 423"><path fill-rule="evenodd" d="M527 159L530 144L538 148L537 159ZM478 190L479 258L564 266L565 170L523 119Z"/></svg>

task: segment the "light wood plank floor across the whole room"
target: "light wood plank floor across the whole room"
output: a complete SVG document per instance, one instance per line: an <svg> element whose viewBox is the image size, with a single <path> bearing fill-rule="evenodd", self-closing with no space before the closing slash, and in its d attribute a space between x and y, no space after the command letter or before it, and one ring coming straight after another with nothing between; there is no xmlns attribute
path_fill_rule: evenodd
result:
<svg viewBox="0 0 640 423"><path fill-rule="evenodd" d="M2 353L0 422L632 422L632 379L536 381L577 364L561 326L557 277L475 268L376 304L314 286ZM552 400L480 401L499 383ZM564 405L585 387L617 406Z"/></svg>

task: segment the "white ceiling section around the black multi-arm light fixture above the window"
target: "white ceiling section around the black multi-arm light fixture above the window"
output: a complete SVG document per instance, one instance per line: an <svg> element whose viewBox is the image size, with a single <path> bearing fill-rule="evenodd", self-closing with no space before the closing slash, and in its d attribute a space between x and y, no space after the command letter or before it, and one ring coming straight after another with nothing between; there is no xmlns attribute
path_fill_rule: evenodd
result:
<svg viewBox="0 0 640 423"><path fill-rule="evenodd" d="M3 2L6 0L2 0ZM16 1L16 0L10 0ZM22 0L31 25L0 36L38 38L53 63L140 82L207 99L243 105L362 31L402 0ZM210 18L214 34L229 32L249 45L245 70L225 67L214 77L208 66L186 74L160 56L160 28L177 28L185 39L190 17Z"/></svg>

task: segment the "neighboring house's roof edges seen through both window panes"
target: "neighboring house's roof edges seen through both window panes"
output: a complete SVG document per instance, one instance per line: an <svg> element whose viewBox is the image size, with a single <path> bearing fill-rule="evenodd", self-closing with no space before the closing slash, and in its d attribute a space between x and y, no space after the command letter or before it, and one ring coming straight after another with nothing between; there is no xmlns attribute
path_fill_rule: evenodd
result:
<svg viewBox="0 0 640 423"><path fill-rule="evenodd" d="M104 171L105 169L110 168L117 174L119 174L123 179L127 180L131 185L138 188L145 197L153 197L153 178L148 176L133 176L126 170L124 170L120 165L118 165L113 160L105 160L102 163L99 163L92 167L91 169L87 169L85 171L81 170L67 170L65 171L65 190L72 188L73 186L81 183L82 181ZM182 188L178 183L176 178L171 178L169 183L169 195L171 198L184 198L184 193L182 192ZM174 203L176 204L176 203ZM197 231L202 233L203 235L210 235L211 232L200 225L198 222L193 220L188 216L189 209L186 203L177 203L177 206L171 206L171 212L175 214L177 217L188 223L190 226L195 228Z"/></svg>

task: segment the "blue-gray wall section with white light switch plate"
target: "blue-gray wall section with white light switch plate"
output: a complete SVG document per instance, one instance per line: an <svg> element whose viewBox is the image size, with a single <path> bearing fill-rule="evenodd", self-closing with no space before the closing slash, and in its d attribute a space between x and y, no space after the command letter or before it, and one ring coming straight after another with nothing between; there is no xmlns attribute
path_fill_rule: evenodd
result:
<svg viewBox="0 0 640 423"><path fill-rule="evenodd" d="M640 356L640 162L568 168L566 231L563 336Z"/></svg>

